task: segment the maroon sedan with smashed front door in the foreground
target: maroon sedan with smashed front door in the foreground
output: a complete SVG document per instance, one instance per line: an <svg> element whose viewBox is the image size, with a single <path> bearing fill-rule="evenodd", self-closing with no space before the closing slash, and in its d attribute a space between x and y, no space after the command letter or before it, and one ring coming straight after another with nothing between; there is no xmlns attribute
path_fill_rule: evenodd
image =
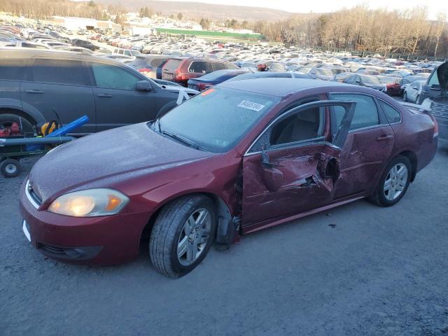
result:
<svg viewBox="0 0 448 336"><path fill-rule="evenodd" d="M45 155L20 190L22 228L44 255L96 265L133 260L147 236L154 267L177 277L214 241L365 197L391 206L436 149L432 116L376 90L225 82Z"/></svg>

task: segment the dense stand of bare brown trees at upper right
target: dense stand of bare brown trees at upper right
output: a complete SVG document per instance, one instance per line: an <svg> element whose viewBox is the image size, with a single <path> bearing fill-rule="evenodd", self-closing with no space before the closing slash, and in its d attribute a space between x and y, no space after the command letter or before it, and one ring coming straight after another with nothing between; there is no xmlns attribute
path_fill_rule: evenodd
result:
<svg viewBox="0 0 448 336"><path fill-rule="evenodd" d="M293 15L281 22L248 25L269 41L308 48L448 57L447 13L428 20L428 8L369 9L365 5L328 14Z"/></svg>

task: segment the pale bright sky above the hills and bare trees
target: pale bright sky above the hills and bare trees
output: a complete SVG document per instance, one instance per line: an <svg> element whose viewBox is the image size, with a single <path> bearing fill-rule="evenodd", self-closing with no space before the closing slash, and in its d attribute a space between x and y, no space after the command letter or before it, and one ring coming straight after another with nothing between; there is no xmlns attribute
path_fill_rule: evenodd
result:
<svg viewBox="0 0 448 336"><path fill-rule="evenodd" d="M167 0L162 0L167 1ZM370 8L405 9L414 6L427 6L430 17L435 18L438 12L448 12L448 0L176 0L198 1L206 3L218 3L222 5L254 6L276 8L296 13L325 13L332 12L343 7L353 7L358 3L368 3Z"/></svg>

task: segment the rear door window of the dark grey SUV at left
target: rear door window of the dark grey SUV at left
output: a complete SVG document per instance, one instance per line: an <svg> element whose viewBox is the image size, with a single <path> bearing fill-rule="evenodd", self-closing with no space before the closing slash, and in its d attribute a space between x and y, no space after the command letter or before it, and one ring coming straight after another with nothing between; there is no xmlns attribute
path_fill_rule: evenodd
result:
<svg viewBox="0 0 448 336"><path fill-rule="evenodd" d="M65 59L36 59L33 66L35 82L86 85L83 66L79 61Z"/></svg>

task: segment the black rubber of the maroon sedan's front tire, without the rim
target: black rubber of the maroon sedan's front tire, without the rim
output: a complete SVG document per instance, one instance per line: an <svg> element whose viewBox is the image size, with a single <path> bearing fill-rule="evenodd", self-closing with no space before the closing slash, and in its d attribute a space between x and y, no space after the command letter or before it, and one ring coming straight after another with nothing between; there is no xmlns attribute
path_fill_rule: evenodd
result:
<svg viewBox="0 0 448 336"><path fill-rule="evenodd" d="M184 232L184 224L197 209L209 211L211 230L203 251L191 265L186 266L179 261L178 243ZM154 223L149 241L149 254L155 269L169 278L179 278L195 269L209 253L215 237L216 221L214 202L204 195L180 197L165 205Z"/></svg>

